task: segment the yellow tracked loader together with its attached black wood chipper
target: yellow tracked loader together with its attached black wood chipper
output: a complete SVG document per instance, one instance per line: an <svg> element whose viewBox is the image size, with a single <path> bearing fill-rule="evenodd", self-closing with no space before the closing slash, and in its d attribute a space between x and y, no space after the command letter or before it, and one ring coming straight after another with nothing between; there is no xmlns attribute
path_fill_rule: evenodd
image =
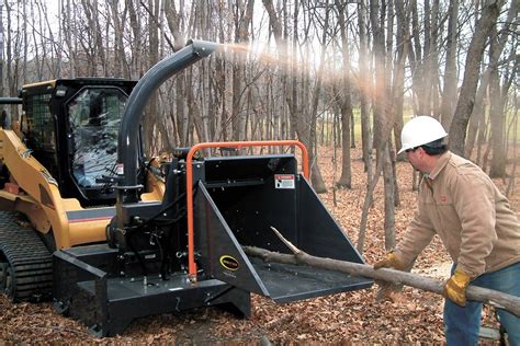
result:
<svg viewBox="0 0 520 346"><path fill-rule="evenodd" d="M218 305L250 315L251 292L276 302L372 281L249 257L286 253L271 231L316 256L363 263L308 184L298 141L199 143L145 158L139 124L151 93L217 44L191 41L137 83L26 85L20 128L0 129L0 289L52 298L60 313L112 336L140 316ZM11 100L13 101L13 100ZM214 148L297 147L302 155L216 157Z"/></svg>

